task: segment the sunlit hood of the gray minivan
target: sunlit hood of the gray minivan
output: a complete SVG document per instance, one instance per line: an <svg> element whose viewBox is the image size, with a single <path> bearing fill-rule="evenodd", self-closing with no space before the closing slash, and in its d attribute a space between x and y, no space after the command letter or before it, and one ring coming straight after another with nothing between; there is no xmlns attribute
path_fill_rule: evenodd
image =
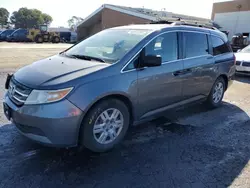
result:
<svg viewBox="0 0 250 188"><path fill-rule="evenodd" d="M110 64L56 55L19 69L14 78L31 88L62 84L103 69Z"/></svg>

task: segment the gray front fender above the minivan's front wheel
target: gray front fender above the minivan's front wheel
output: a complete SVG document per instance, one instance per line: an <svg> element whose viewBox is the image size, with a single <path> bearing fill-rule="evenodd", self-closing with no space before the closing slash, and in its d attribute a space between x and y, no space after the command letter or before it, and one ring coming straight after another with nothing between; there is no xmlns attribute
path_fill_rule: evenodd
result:
<svg viewBox="0 0 250 188"><path fill-rule="evenodd" d="M83 112L88 110L99 100L112 95L121 95L137 103L137 73L118 74L104 79L95 80L79 86L68 96L68 100Z"/></svg>

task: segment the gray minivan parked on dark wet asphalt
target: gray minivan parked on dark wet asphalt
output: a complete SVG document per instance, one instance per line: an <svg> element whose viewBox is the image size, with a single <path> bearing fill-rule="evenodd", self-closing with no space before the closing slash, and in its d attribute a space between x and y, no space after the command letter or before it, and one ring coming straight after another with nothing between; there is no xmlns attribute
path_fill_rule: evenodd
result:
<svg viewBox="0 0 250 188"><path fill-rule="evenodd" d="M196 101L221 104L235 56L220 31L145 24L101 31L9 75L4 112L56 147L113 148L128 127Z"/></svg>

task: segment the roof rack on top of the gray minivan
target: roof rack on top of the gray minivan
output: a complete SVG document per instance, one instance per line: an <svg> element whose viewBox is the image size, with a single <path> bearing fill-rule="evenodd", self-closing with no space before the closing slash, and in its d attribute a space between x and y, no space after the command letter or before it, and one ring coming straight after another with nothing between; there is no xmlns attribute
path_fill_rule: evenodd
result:
<svg viewBox="0 0 250 188"><path fill-rule="evenodd" d="M171 25L187 25L187 26L194 26L194 27L202 27L208 28L213 30L218 30L216 27L213 26L211 23L196 21L196 20L182 20L181 18L177 19L161 19L157 21L153 21L150 24L171 24Z"/></svg>

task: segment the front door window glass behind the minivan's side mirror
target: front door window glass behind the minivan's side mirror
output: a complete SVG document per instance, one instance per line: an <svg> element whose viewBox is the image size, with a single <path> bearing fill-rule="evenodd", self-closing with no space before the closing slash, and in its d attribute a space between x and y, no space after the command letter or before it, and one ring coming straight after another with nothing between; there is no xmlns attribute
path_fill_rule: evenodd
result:
<svg viewBox="0 0 250 188"><path fill-rule="evenodd" d="M145 55L161 56L162 62L178 59L177 33L162 34L145 47Z"/></svg>

